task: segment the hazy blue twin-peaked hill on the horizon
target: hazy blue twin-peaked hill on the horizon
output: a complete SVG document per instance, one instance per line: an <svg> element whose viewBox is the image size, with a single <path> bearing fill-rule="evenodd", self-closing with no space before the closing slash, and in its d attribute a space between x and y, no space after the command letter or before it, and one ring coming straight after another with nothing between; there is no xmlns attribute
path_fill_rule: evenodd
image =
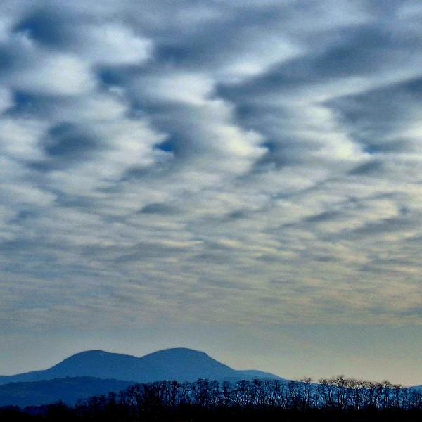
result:
<svg viewBox="0 0 422 422"><path fill-rule="evenodd" d="M237 371L218 362L204 352L176 348L160 350L143 357L91 350L68 359L44 371L1 376L0 385L65 377L94 377L144 383L160 380L196 381L198 378L236 381L252 378L278 378L261 371Z"/></svg>

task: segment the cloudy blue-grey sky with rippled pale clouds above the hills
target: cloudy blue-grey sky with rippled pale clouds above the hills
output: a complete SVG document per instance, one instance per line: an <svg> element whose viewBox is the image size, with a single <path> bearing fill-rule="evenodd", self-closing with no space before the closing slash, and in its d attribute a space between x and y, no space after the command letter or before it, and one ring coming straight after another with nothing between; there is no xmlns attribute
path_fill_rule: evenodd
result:
<svg viewBox="0 0 422 422"><path fill-rule="evenodd" d="M1 1L0 373L422 384L421 49L416 0Z"/></svg>

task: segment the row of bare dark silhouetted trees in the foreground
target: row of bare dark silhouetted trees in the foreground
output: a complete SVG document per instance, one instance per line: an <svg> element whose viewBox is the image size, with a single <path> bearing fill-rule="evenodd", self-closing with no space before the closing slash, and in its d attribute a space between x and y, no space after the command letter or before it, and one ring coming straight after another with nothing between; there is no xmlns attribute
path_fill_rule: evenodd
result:
<svg viewBox="0 0 422 422"><path fill-rule="evenodd" d="M176 409L195 405L213 407L279 407L282 409L422 409L422 392L388 381L373 383L338 376L312 383L300 381L241 380L193 383L159 381L132 385L108 396L99 395L80 401L79 409L98 409L123 405L134 414L155 408Z"/></svg>

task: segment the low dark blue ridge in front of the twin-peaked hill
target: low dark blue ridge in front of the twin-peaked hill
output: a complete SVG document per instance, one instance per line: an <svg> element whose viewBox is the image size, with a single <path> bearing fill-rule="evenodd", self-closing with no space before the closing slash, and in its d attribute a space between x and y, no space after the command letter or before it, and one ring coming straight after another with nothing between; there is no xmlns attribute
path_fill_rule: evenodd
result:
<svg viewBox="0 0 422 422"><path fill-rule="evenodd" d="M131 384L129 381L101 380L85 376L32 383L9 383L0 385L0 407L40 406L58 401L72 405L78 399L118 392Z"/></svg>

